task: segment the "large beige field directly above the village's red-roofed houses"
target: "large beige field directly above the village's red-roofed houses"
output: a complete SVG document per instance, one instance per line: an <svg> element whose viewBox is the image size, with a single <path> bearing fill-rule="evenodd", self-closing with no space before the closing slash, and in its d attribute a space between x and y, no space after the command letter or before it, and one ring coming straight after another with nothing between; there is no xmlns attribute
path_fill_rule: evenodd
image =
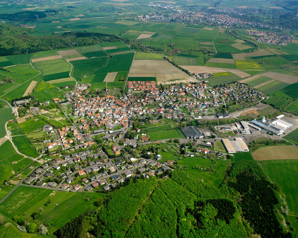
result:
<svg viewBox="0 0 298 238"><path fill-rule="evenodd" d="M128 77L134 77L134 74L156 74L158 82L189 77L188 74L165 60L134 60Z"/></svg>

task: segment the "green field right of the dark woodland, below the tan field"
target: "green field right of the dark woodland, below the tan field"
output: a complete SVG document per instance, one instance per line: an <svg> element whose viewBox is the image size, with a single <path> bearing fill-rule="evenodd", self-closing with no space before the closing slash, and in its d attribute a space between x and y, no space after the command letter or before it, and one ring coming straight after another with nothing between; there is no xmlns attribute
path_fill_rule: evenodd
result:
<svg viewBox="0 0 298 238"><path fill-rule="evenodd" d="M263 161L269 178L278 183L291 215L298 215L298 160Z"/></svg>

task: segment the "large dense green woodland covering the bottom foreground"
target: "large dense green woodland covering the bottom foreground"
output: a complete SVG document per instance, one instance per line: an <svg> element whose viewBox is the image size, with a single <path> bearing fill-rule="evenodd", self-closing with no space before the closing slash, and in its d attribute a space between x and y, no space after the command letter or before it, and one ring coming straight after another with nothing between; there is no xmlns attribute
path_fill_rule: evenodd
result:
<svg viewBox="0 0 298 238"><path fill-rule="evenodd" d="M130 179L56 236L84 237L88 231L105 238L298 237L282 225L284 204L255 161L232 164L218 188L181 170L169 177Z"/></svg>

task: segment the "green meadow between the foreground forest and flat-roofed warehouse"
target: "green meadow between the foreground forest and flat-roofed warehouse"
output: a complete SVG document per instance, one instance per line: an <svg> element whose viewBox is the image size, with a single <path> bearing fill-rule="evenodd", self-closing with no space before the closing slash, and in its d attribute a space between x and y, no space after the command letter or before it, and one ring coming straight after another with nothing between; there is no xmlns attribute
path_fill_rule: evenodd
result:
<svg viewBox="0 0 298 238"><path fill-rule="evenodd" d="M215 171L207 171L208 167L210 167L213 163L216 163ZM191 175L193 178L200 181L201 179L204 180L204 183L208 185L219 186L224 179L226 169L230 166L231 161L229 160L218 160L216 159L215 162L212 162L209 158L202 158L202 157L187 157L184 159L178 160L178 166L186 166L187 174ZM203 167L203 169L195 168L195 166Z"/></svg>

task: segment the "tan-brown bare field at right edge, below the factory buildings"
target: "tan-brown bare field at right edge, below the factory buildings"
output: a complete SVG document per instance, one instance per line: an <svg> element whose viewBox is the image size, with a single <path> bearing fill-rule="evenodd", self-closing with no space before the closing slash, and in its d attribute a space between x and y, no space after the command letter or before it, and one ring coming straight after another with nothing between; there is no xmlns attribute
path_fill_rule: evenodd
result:
<svg viewBox="0 0 298 238"><path fill-rule="evenodd" d="M256 161L298 159L298 148L294 145L261 147L252 153Z"/></svg>

